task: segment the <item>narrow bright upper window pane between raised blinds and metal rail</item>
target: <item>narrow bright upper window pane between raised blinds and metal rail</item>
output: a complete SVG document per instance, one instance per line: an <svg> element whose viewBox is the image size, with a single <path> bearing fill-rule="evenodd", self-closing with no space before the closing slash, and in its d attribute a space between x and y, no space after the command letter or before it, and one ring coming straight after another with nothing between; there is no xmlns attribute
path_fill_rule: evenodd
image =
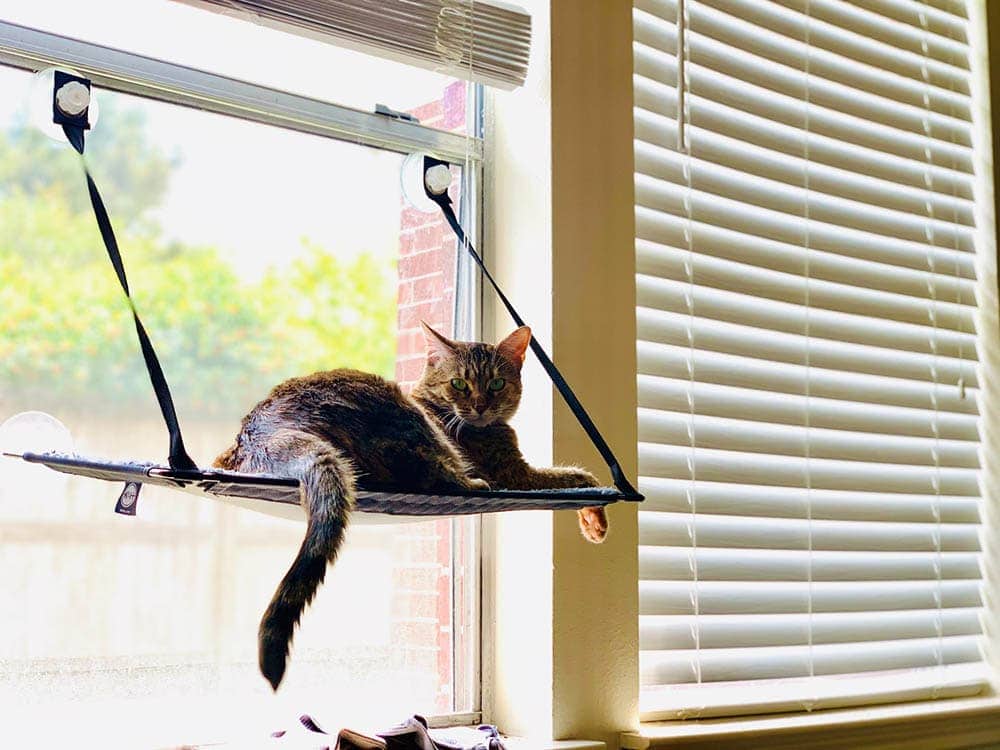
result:
<svg viewBox="0 0 1000 750"><path fill-rule="evenodd" d="M366 112L376 103L461 106L445 95L454 78L172 0L5 0L0 19ZM430 127L464 127L416 116Z"/></svg>

